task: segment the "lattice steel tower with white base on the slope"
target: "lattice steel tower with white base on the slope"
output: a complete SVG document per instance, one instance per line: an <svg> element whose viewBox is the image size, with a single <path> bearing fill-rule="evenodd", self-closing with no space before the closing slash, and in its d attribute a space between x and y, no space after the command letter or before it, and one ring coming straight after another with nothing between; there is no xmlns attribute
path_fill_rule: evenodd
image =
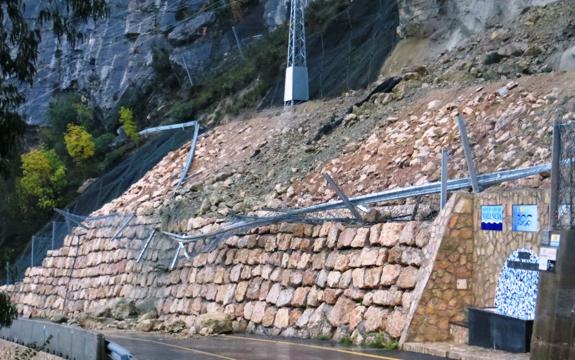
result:
<svg viewBox="0 0 575 360"><path fill-rule="evenodd" d="M284 104L286 106L309 100L304 22L306 3L307 0L291 0L288 61L284 90Z"/></svg>

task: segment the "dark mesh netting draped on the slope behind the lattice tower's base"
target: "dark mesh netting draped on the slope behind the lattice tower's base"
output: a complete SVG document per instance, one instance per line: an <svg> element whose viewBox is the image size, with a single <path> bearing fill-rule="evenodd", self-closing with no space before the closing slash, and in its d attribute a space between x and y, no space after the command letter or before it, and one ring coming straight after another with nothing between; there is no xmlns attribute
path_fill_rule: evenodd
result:
<svg viewBox="0 0 575 360"><path fill-rule="evenodd" d="M377 80L397 42L397 2L360 0L306 36L310 96L333 97ZM264 104L283 102L283 74Z"/></svg>

